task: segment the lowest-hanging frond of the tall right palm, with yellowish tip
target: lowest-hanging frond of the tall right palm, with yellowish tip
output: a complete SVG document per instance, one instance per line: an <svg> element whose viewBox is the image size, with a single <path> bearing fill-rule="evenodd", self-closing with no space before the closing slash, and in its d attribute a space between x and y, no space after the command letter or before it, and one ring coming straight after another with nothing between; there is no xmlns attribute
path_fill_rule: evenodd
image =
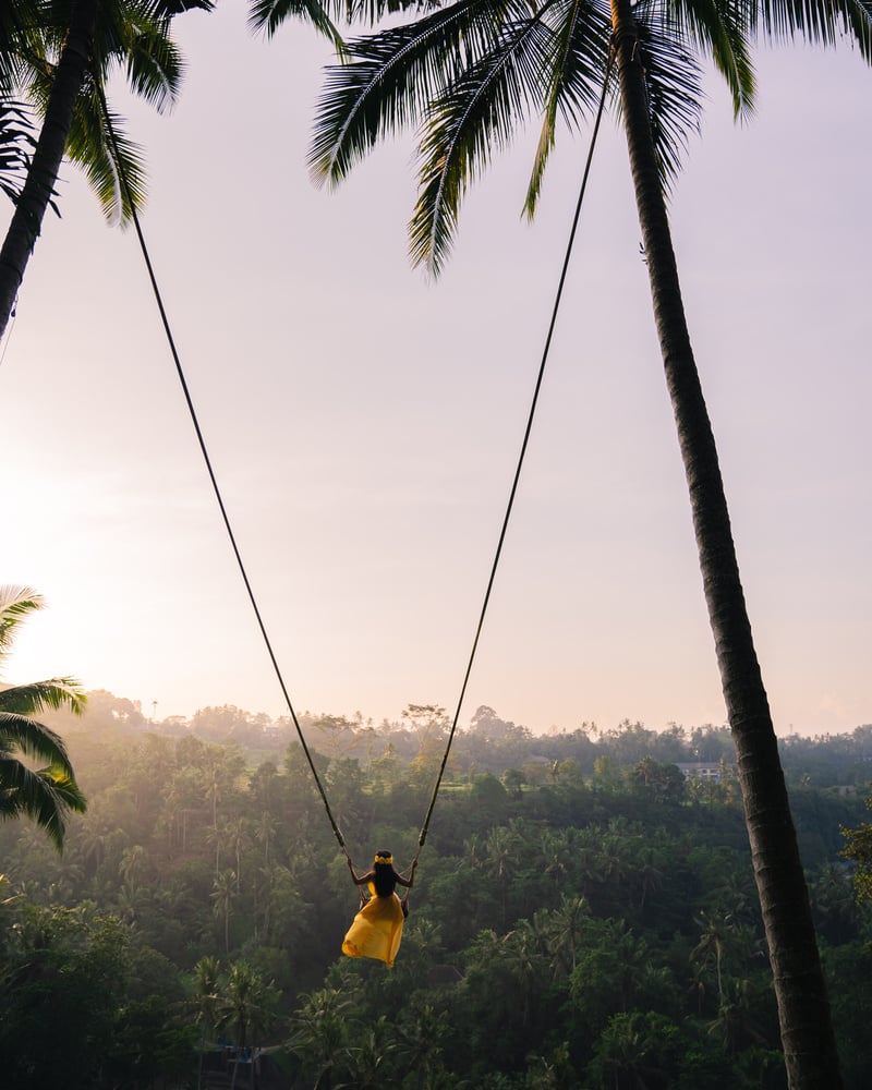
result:
<svg viewBox="0 0 872 1090"><path fill-rule="evenodd" d="M419 199L409 226L413 264L439 274L463 194L530 113L554 40L537 19L508 23L492 49L434 100L424 121Z"/></svg>

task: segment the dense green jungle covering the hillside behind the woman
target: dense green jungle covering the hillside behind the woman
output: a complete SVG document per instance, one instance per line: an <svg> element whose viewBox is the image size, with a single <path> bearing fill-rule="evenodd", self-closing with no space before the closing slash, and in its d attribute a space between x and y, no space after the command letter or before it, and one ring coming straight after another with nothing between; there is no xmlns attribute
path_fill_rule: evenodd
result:
<svg viewBox="0 0 872 1090"><path fill-rule="evenodd" d="M304 722L355 861L410 861L441 708ZM389 971L339 955L356 892L287 724L148 723L108 693L57 724L90 803L64 857L0 826L0 1069L22 1090L196 1086L219 1038L278 1046L299 1087L785 1085L723 728L534 737L480 708ZM783 751L846 1085L865 1087L872 917L839 851L872 730Z"/></svg>

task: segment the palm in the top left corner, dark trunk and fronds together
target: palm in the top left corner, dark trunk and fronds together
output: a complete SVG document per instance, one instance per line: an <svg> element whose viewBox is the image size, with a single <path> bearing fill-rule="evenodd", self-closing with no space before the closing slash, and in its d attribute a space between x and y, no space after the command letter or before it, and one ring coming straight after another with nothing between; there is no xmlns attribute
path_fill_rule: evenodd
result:
<svg viewBox="0 0 872 1090"><path fill-rule="evenodd" d="M112 116L104 87L116 66L159 111L178 94L181 60L169 31L180 12L213 0L13 0L0 37L2 69L43 118L15 211L0 250L0 337L55 193L61 160L83 167L110 219L143 197L143 165ZM19 145L20 146L20 145ZM120 184L123 169L128 185Z"/></svg>

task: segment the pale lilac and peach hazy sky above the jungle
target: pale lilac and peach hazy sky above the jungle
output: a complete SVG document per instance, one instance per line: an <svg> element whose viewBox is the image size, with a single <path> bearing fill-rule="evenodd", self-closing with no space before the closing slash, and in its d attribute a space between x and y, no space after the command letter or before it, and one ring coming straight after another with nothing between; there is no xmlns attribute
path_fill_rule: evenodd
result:
<svg viewBox="0 0 872 1090"><path fill-rule="evenodd" d="M405 256L410 141L335 193L310 182L326 47L252 38L242 0L177 26L174 112L111 98L147 149L144 230L294 704L452 710L588 134L561 133L532 227L536 133L500 158L434 284ZM758 71L746 126L710 84L674 234L776 729L850 730L872 722L872 71L801 48ZM0 582L48 600L7 680L282 714L135 237L63 179L0 365ZM610 123L461 722L724 722L639 243Z"/></svg>

